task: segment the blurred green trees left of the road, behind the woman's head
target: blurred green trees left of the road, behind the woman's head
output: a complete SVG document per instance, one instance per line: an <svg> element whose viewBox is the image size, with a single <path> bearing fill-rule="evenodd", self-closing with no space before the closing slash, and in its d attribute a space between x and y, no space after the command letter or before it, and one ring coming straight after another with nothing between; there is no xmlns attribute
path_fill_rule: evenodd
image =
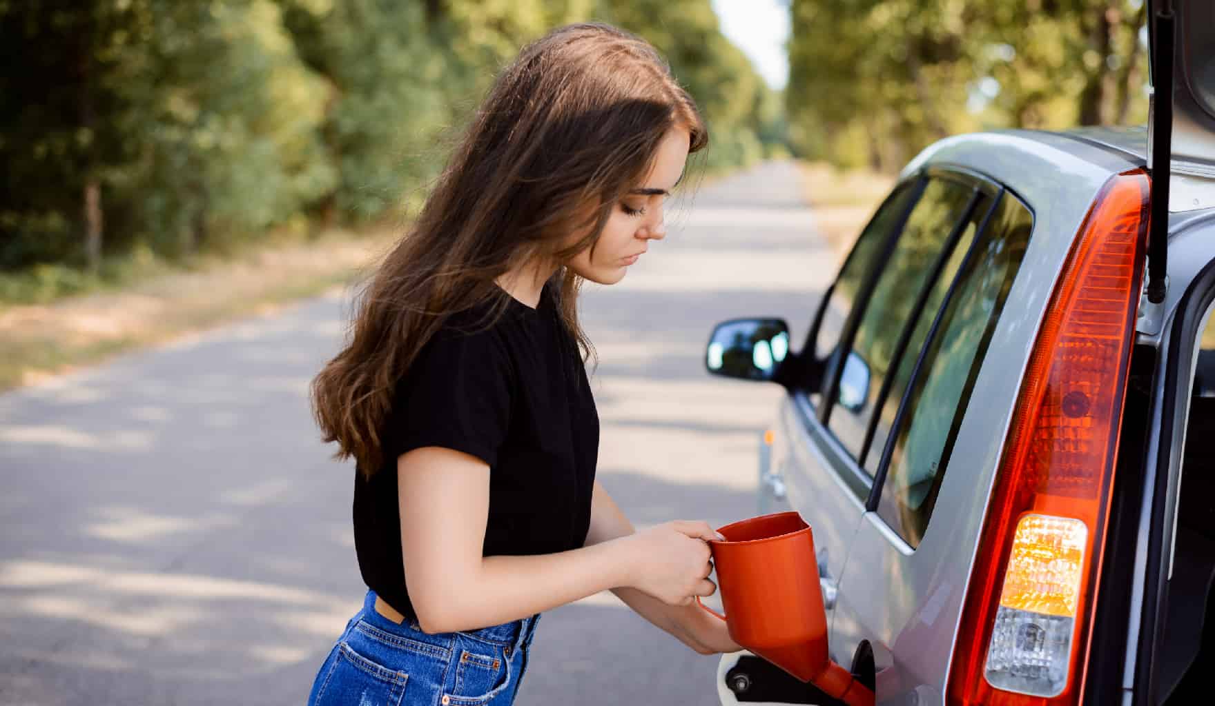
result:
<svg viewBox="0 0 1215 706"><path fill-rule="evenodd" d="M710 169L781 140L708 0L0 0L0 273L63 292L115 255L407 216L497 69L589 18L669 58Z"/></svg>

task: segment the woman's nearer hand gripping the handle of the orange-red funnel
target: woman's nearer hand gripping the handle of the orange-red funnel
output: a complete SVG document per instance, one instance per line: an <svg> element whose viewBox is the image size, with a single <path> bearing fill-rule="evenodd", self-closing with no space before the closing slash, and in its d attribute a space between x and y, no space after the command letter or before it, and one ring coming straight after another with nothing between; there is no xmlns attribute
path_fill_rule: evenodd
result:
<svg viewBox="0 0 1215 706"><path fill-rule="evenodd" d="M674 520L639 531L628 542L634 558L629 586L668 605L690 605L696 596L712 596L708 580L708 540L723 539L708 523Z"/></svg>

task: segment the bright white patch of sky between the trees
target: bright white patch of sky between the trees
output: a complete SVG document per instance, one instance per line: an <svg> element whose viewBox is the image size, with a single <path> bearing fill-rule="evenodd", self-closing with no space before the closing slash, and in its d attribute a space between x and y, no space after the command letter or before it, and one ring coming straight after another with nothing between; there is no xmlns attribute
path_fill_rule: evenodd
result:
<svg viewBox="0 0 1215 706"><path fill-rule="evenodd" d="M712 0L722 32L751 59L768 85L789 81L789 0Z"/></svg>

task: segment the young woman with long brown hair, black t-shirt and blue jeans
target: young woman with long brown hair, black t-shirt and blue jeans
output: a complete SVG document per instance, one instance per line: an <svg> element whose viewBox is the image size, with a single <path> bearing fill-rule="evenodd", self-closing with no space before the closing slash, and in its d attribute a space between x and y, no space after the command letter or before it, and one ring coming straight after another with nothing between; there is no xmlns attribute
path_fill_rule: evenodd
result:
<svg viewBox="0 0 1215 706"><path fill-rule="evenodd" d="M594 479L577 318L583 280L620 281L662 239L706 142L662 58L608 25L558 29L498 76L312 383L357 465L369 590L310 704L509 705L539 614L604 590L697 653L741 649L694 603L717 588L713 530L635 533Z"/></svg>

